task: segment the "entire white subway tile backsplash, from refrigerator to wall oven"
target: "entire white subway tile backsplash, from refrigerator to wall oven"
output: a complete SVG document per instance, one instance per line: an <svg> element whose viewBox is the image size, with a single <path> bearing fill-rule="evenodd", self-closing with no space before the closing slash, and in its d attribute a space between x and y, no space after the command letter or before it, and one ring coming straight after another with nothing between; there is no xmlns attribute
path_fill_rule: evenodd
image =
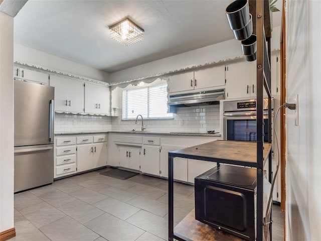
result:
<svg viewBox="0 0 321 241"><path fill-rule="evenodd" d="M220 131L219 105L179 107L171 119L144 119L146 131L200 132ZM55 132L140 131L141 119L122 120L121 116L55 114Z"/></svg>

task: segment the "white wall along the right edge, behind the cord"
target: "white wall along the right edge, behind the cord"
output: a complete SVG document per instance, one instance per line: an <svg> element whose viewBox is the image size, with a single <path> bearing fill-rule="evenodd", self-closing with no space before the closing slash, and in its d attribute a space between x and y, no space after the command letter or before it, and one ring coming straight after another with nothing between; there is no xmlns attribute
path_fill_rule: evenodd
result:
<svg viewBox="0 0 321 241"><path fill-rule="evenodd" d="M286 95L299 94L286 120L286 239L321 238L321 2L286 1Z"/></svg>

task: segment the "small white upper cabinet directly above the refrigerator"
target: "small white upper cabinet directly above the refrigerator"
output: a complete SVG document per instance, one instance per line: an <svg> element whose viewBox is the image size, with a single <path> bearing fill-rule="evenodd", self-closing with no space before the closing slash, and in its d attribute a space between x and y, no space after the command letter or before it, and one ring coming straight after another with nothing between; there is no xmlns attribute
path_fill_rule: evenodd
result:
<svg viewBox="0 0 321 241"><path fill-rule="evenodd" d="M49 74L14 66L14 77L31 82L49 84Z"/></svg>

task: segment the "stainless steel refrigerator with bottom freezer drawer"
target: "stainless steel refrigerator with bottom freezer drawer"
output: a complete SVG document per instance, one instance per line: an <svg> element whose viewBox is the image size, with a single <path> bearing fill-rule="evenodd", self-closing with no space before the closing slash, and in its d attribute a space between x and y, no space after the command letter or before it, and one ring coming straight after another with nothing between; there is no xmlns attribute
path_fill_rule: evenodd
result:
<svg viewBox="0 0 321 241"><path fill-rule="evenodd" d="M54 180L55 88L15 80L15 192Z"/></svg>

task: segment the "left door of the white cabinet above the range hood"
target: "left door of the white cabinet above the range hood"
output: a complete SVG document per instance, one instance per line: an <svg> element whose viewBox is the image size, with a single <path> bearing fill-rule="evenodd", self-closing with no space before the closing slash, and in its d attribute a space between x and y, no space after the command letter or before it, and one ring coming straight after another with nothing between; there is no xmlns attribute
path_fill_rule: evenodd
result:
<svg viewBox="0 0 321 241"><path fill-rule="evenodd" d="M168 89L169 93L194 89L194 71L171 76Z"/></svg>

